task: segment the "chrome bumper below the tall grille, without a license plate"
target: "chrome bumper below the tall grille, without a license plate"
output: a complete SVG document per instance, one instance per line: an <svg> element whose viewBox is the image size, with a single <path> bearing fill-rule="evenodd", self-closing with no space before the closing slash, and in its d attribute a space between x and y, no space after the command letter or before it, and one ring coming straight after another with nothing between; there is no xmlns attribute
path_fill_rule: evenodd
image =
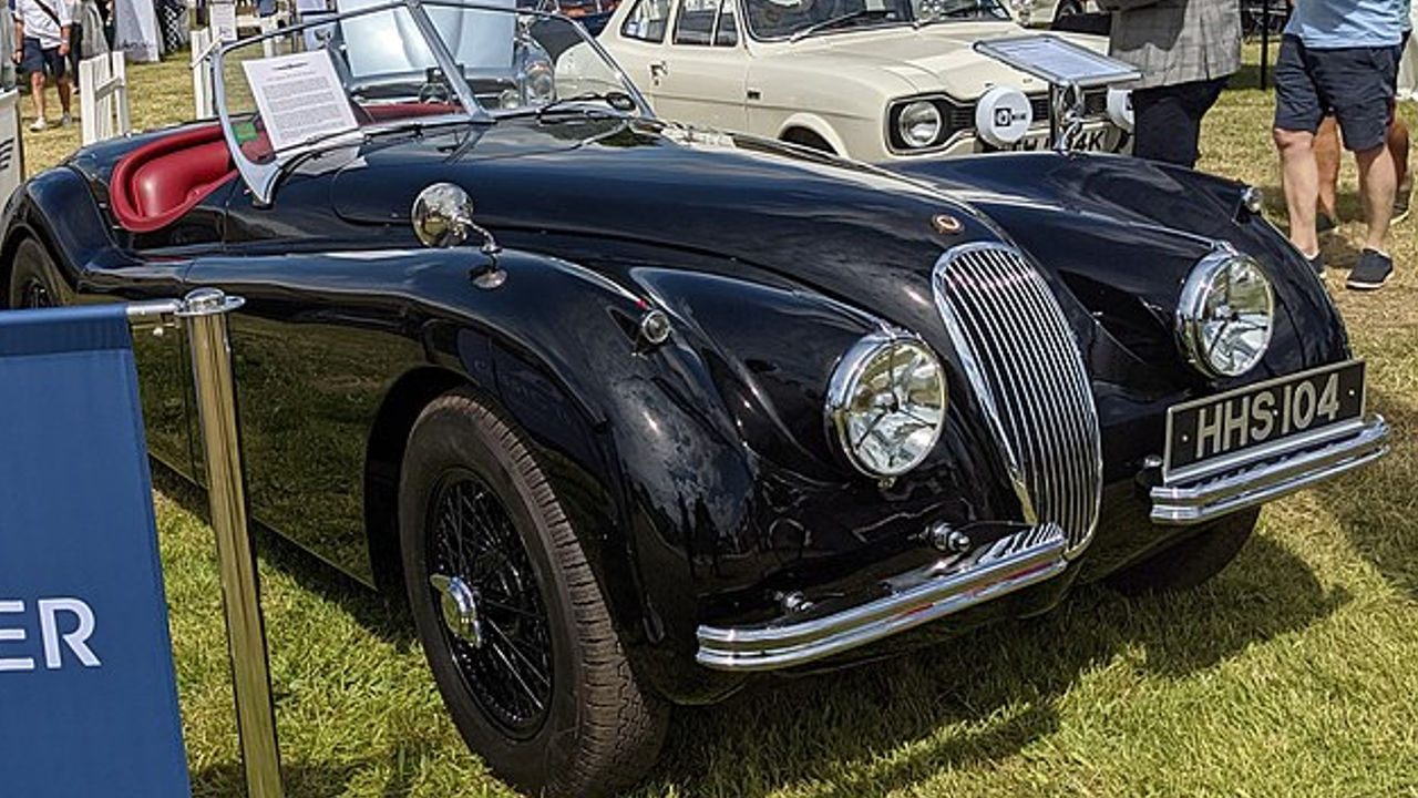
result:
<svg viewBox="0 0 1418 798"><path fill-rule="evenodd" d="M888 595L834 612L757 626L700 626L700 665L776 670L822 659L1042 582L1064 571L1068 538L1041 524L883 582Z"/></svg>

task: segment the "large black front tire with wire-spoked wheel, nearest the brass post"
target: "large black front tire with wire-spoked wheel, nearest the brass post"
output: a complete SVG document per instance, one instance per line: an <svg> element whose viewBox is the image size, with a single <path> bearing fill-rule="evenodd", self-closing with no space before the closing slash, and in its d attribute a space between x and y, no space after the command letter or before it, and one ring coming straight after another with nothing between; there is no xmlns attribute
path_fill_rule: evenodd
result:
<svg viewBox="0 0 1418 798"><path fill-rule="evenodd" d="M669 707L637 684L545 474L471 392L440 396L414 423L398 521L414 622L468 745L532 794L604 795L640 781ZM481 645L445 622L444 595L457 588L435 591L434 568L475 594Z"/></svg>

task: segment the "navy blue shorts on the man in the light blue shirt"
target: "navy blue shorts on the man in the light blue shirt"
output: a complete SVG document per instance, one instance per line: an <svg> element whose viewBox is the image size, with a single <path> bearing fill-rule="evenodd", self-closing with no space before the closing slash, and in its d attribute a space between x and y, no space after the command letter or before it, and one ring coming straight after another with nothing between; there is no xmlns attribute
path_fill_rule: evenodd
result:
<svg viewBox="0 0 1418 798"><path fill-rule="evenodd" d="M1388 139L1398 58L1394 47L1309 50L1293 35L1275 61L1275 126L1313 133L1333 114L1350 152Z"/></svg>

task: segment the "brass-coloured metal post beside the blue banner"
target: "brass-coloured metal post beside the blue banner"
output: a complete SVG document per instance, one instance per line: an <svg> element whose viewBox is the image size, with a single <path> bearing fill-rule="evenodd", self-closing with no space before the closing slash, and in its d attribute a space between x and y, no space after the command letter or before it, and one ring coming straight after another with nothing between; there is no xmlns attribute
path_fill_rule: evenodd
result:
<svg viewBox="0 0 1418 798"><path fill-rule="evenodd" d="M227 613L231 680L237 694L237 733L251 798L282 798L281 751L271 704L271 665L257 559L247 527L247 497L237 439L237 398L231 381L227 314L242 305L216 288L187 294L177 315L187 322L191 371L201 415L211 528L217 532L221 564L221 599Z"/></svg>

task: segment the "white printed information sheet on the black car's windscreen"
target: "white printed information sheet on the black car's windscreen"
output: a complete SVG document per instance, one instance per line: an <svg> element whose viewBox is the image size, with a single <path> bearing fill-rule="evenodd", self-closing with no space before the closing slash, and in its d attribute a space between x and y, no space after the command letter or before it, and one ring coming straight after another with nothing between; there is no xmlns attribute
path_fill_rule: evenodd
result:
<svg viewBox="0 0 1418 798"><path fill-rule="evenodd" d="M242 61L241 68L277 152L359 126L325 50Z"/></svg>

